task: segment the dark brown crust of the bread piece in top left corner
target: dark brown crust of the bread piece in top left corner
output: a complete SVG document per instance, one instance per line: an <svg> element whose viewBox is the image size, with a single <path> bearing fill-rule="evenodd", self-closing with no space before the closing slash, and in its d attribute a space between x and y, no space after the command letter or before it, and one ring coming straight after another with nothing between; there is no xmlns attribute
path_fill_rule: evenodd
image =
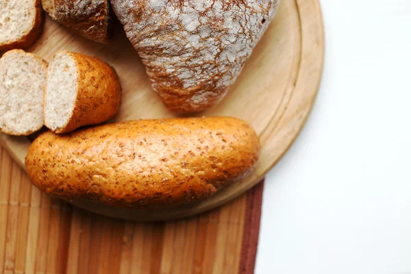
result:
<svg viewBox="0 0 411 274"><path fill-rule="evenodd" d="M0 51L6 52L11 49L27 49L36 42L44 27L44 14L41 8L41 0L36 0L35 7L36 18L29 32L23 34L19 40L1 40L0 37Z"/></svg>

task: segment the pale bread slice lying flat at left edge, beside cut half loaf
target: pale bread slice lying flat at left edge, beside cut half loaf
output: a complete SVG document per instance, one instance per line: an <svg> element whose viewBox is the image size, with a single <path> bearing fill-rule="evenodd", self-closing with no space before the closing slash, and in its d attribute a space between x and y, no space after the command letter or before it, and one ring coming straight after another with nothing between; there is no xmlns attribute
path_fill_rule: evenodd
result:
<svg viewBox="0 0 411 274"><path fill-rule="evenodd" d="M0 130L27 136L44 125L47 62L21 49L0 59Z"/></svg>

